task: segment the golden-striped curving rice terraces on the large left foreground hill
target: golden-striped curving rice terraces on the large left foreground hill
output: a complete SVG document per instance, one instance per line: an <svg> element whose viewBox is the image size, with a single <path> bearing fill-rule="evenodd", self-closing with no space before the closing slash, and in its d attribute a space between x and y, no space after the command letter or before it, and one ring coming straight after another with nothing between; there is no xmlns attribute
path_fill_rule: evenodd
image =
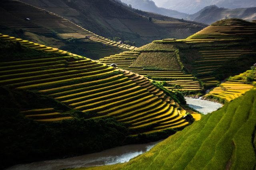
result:
<svg viewBox="0 0 256 170"><path fill-rule="evenodd" d="M0 38L9 39L5 35L1 35ZM21 44L24 42L12 39ZM58 49L52 52L59 53ZM60 54L62 53L61 51ZM150 120L147 116L143 120L154 126L168 120L169 123L166 125L172 127L173 122L170 120L176 116L180 118L175 121L175 125L178 125L176 127L188 125L188 122L182 119L186 111L173 115L174 109L177 109L173 99L148 82L148 78L144 78L143 75L126 70L122 70L122 73L114 67L76 55L10 61L0 65L1 85L15 89L38 90L72 109L90 113L93 115L91 117L112 115L117 119L122 118L123 121L133 121L135 118L148 116L150 112ZM34 120L41 117L40 121L44 120L43 116L47 117L44 121L52 121L60 115L56 111L45 113L45 108L36 109L41 110L31 109L22 113L26 113L27 117L33 117ZM170 119L168 116L171 116ZM144 126L144 123L140 123L140 127Z"/></svg>

